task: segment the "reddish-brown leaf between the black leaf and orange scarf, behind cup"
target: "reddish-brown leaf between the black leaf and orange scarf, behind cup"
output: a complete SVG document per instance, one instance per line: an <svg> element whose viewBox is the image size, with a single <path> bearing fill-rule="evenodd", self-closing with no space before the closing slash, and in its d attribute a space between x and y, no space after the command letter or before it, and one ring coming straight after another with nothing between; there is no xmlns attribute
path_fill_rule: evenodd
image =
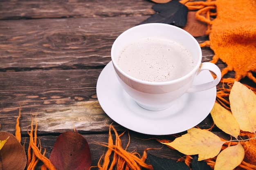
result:
<svg viewBox="0 0 256 170"><path fill-rule="evenodd" d="M207 24L195 18L196 11L189 11L187 16L187 23L182 29L189 32L194 37L205 35L207 31Z"/></svg>

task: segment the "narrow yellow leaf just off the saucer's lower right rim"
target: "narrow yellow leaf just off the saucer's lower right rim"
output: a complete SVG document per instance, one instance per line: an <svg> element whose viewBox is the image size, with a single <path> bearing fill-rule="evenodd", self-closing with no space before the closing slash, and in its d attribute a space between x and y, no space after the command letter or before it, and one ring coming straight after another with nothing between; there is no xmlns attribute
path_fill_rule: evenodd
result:
<svg viewBox="0 0 256 170"><path fill-rule="evenodd" d="M240 134L240 126L229 110L215 103L211 110L211 117L218 128L237 139Z"/></svg>

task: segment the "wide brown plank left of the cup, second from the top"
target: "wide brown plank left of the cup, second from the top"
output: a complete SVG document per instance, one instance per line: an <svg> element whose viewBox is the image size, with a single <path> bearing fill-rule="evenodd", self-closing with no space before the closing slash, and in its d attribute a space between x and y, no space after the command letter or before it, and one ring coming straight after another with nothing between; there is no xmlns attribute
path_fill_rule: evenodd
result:
<svg viewBox="0 0 256 170"><path fill-rule="evenodd" d="M1 20L0 68L20 71L106 65L117 36L146 18Z"/></svg>

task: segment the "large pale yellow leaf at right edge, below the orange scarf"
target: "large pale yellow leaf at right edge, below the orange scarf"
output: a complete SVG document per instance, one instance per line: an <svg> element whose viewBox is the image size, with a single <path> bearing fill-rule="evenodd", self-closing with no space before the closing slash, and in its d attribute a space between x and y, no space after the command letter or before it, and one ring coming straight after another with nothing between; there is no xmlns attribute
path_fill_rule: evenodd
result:
<svg viewBox="0 0 256 170"><path fill-rule="evenodd" d="M256 95L240 82L234 82L229 94L230 108L240 129L256 131Z"/></svg>

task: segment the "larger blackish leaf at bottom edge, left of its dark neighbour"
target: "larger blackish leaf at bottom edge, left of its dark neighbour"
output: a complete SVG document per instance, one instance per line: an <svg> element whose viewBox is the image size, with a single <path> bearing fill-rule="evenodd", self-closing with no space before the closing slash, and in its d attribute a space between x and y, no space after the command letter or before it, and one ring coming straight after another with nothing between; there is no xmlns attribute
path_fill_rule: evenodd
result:
<svg viewBox="0 0 256 170"><path fill-rule="evenodd" d="M176 162L173 159L158 158L154 155L148 155L151 165L154 170L189 170L189 167L184 162Z"/></svg>

